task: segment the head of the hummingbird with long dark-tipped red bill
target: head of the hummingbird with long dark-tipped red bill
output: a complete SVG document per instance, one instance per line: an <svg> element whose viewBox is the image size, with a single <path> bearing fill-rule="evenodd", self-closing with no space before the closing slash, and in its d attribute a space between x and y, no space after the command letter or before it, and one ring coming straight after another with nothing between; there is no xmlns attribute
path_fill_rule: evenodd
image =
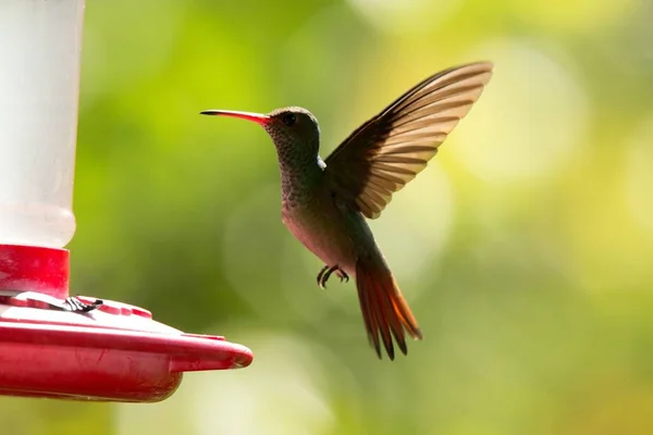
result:
<svg viewBox="0 0 653 435"><path fill-rule="evenodd" d="M317 158L320 150L318 120L303 108L275 109L268 114L231 110L206 110L200 114L239 117L259 124L272 138L280 160L289 153Z"/></svg>

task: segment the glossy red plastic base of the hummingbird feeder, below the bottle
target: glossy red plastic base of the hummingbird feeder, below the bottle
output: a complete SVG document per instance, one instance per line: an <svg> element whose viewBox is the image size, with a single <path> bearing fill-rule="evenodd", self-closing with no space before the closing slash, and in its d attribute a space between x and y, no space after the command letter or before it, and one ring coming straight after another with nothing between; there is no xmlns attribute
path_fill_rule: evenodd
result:
<svg viewBox="0 0 653 435"><path fill-rule="evenodd" d="M0 245L0 395L159 401L183 372L238 369L254 358L223 337L184 334L121 302L64 311L63 249Z"/></svg>

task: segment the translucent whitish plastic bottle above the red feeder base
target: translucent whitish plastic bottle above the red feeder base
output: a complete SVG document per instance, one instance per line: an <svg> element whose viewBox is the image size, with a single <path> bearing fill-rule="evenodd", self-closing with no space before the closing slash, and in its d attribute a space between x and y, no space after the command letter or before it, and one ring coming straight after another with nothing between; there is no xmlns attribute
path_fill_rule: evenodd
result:
<svg viewBox="0 0 653 435"><path fill-rule="evenodd" d="M0 0L0 244L64 247L84 0Z"/></svg>

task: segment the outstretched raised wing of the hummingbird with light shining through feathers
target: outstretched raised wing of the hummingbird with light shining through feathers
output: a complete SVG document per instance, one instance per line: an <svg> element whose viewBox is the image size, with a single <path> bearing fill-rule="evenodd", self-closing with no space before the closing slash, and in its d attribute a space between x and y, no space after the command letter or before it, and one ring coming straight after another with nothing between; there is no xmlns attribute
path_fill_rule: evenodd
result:
<svg viewBox="0 0 653 435"><path fill-rule="evenodd" d="M469 112L492 67L490 62L453 67L408 90L326 158L329 188L367 217L378 217Z"/></svg>

